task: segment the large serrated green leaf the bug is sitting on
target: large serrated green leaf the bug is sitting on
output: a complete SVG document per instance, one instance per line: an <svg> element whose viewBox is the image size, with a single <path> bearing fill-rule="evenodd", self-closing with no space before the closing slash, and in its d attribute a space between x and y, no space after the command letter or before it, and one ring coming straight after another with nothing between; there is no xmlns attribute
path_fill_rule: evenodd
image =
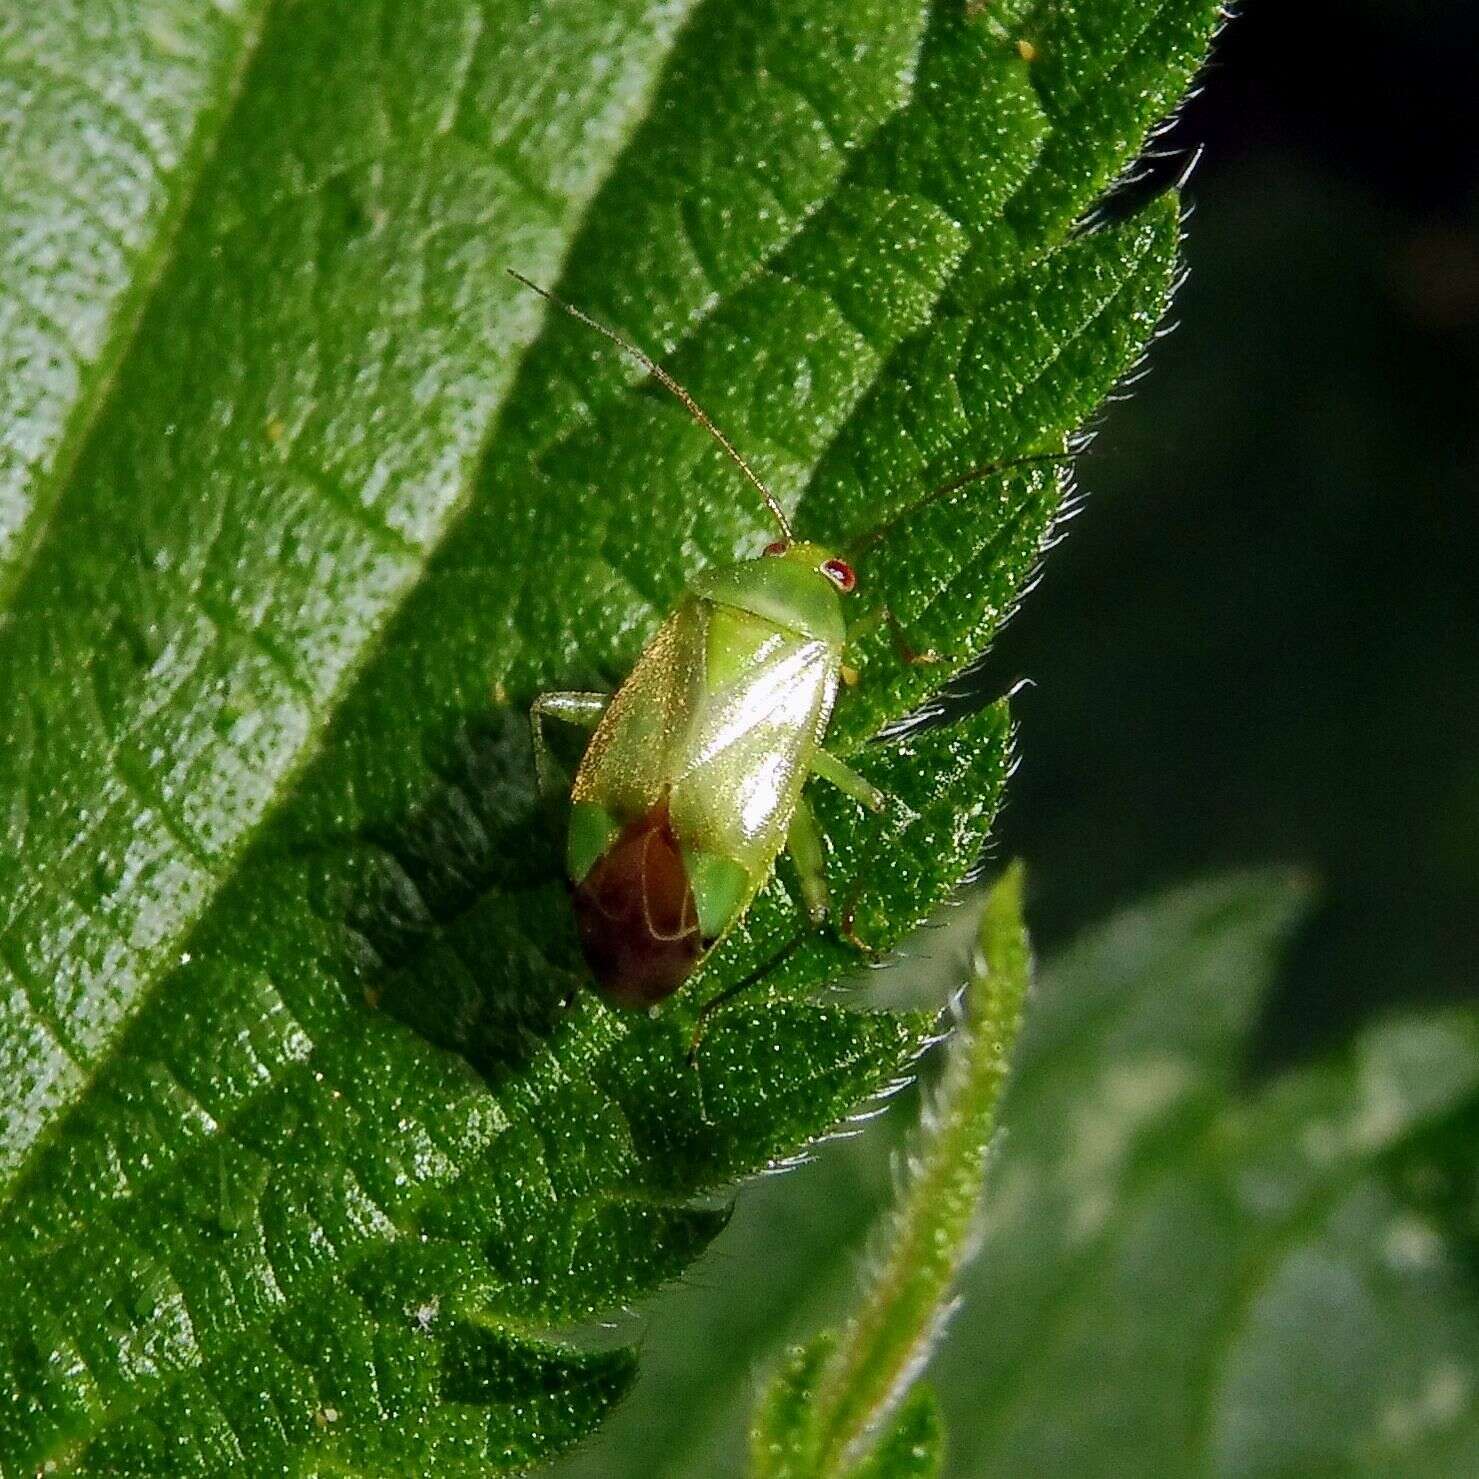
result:
<svg viewBox="0 0 1479 1479"><path fill-rule="evenodd" d="M686 1066L695 1001L794 929L784 877L655 1021L561 1009L528 703L617 682L763 522L503 269L661 351L805 529L852 534L1062 445L1142 352L1174 203L1069 228L1158 95L1094 83L1099 163L967 293L1080 146L1052 120L1087 31L1037 77L945 3L34 9L0 12L7 81L146 96L175 143L90 368L27 358L4 392L34 454L0 578L0 1473L527 1467L632 1380L549 1328L673 1278L723 1223L694 1198L893 1083L927 1023L812 1000L850 964L818 942ZM136 33L194 61L135 84ZM1174 92L1192 56L1145 65ZM47 109L4 135L35 195L7 222L71 222L47 161L106 142ZM27 248L31 297L89 241ZM839 716L905 803L881 833L822 806L880 945L975 861L1009 725L867 741L989 639L1057 497L1019 469L867 562L957 658L880 646Z"/></svg>

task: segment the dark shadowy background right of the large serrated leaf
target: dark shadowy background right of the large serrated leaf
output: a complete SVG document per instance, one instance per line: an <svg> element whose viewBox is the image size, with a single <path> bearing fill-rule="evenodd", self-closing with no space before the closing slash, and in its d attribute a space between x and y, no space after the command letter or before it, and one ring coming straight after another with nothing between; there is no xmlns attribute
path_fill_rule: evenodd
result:
<svg viewBox="0 0 1479 1479"><path fill-rule="evenodd" d="M1219 864L1319 880L1269 1060L1479 979L1479 4L1245 4L1177 330L982 673L1040 948Z"/></svg>

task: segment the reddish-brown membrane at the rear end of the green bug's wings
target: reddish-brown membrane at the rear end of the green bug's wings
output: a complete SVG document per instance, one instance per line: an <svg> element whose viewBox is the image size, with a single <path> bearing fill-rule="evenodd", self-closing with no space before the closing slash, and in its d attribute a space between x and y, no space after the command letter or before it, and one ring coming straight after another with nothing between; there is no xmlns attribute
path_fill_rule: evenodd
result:
<svg viewBox="0 0 1479 1479"><path fill-rule="evenodd" d="M586 874L575 924L596 985L618 1007L654 1006L688 979L704 942L666 796Z"/></svg>

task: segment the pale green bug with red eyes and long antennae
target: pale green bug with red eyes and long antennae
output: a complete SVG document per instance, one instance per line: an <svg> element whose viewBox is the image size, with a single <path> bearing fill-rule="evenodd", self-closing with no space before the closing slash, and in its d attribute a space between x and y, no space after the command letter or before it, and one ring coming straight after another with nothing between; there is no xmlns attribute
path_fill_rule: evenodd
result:
<svg viewBox="0 0 1479 1479"><path fill-rule="evenodd" d="M803 794L809 779L871 812L887 803L824 745L839 683L855 679L845 660L845 602L858 580L842 555L794 537L775 494L661 365L510 275L617 343L677 396L759 493L778 531L760 556L692 578L615 695L544 694L529 714L546 793L565 781L544 723L593 731L571 787L565 865L575 921L602 995L645 1009L671 995L744 917L782 849L810 923L827 920L822 837ZM892 623L886 609L881 615ZM938 661L932 652L905 657ZM865 948L847 916L843 933ZM735 989L714 997L703 1016Z"/></svg>

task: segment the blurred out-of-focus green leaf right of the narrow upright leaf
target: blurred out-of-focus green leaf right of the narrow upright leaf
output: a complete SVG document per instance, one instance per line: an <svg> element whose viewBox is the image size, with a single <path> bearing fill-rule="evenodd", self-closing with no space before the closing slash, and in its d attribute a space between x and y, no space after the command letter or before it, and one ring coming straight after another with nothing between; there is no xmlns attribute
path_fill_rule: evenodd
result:
<svg viewBox="0 0 1479 1479"><path fill-rule="evenodd" d="M1294 898L1189 890L1043 991L970 1290L989 1338L947 1355L981 1398L966 1472L1415 1473L1454 1424L1479 1436L1452 1392L1479 1291L1389 1168L1475 1103L1479 1023L1378 1025L1239 1093Z"/></svg>

